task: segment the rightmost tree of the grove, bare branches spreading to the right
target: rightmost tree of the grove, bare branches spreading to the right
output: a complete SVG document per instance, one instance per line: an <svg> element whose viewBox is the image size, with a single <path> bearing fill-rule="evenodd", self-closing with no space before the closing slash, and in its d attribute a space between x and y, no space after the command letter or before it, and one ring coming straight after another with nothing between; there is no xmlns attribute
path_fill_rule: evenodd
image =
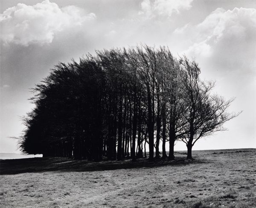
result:
<svg viewBox="0 0 256 208"><path fill-rule="evenodd" d="M223 124L240 113L229 113L227 108L233 102L224 100L217 94L211 94L214 83L200 80L200 68L195 61L186 57L181 60L183 67L183 117L186 131L182 141L187 146L187 158L192 159L192 147L201 137L216 131L224 131Z"/></svg>

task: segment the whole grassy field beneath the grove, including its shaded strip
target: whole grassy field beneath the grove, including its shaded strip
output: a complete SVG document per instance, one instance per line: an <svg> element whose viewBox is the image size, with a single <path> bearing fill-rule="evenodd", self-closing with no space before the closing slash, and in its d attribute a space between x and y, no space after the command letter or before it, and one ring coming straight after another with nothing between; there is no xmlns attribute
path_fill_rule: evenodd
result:
<svg viewBox="0 0 256 208"><path fill-rule="evenodd" d="M193 151L195 160L0 161L1 208L256 208L256 149Z"/></svg>

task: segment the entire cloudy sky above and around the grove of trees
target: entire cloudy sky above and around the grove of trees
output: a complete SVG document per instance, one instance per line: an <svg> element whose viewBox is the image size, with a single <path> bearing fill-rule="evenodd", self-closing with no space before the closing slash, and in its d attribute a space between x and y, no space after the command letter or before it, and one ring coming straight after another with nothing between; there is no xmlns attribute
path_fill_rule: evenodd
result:
<svg viewBox="0 0 256 208"><path fill-rule="evenodd" d="M255 0L0 0L0 152L19 153L31 88L58 62L113 47L168 46L236 98L228 131L193 149L256 148ZM175 150L186 150L178 142Z"/></svg>

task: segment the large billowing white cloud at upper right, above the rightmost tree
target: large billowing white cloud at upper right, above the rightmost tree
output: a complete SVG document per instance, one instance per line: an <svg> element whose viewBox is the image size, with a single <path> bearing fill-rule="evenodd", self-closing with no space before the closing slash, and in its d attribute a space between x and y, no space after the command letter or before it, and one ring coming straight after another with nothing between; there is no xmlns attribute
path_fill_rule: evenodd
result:
<svg viewBox="0 0 256 208"><path fill-rule="evenodd" d="M191 56L212 57L222 66L256 64L256 9L218 8L198 25L177 28L174 34L192 39L185 51Z"/></svg>

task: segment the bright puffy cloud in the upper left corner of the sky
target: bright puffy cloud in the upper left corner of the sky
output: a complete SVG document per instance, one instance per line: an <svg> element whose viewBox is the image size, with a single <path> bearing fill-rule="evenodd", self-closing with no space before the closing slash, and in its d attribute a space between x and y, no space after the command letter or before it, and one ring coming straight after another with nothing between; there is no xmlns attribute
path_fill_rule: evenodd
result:
<svg viewBox="0 0 256 208"><path fill-rule="evenodd" d="M82 26L96 18L76 6L60 8L56 3L44 0L33 6L18 3L0 14L3 43L28 46L52 43L56 33Z"/></svg>

